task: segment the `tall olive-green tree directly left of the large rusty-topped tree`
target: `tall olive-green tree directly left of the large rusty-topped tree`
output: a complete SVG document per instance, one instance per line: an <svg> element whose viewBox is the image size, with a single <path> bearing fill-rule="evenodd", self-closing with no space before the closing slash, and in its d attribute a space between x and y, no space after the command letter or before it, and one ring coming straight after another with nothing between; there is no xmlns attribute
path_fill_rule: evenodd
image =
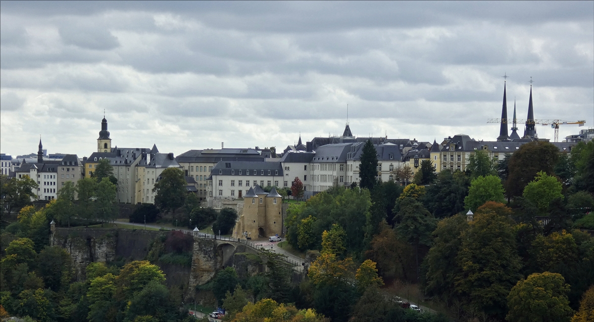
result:
<svg viewBox="0 0 594 322"><path fill-rule="evenodd" d="M456 278L462 274L462 266L456 256L462 248L462 233L467 229L466 216L462 214L437 223L432 247L423 263L422 286L426 295L441 298L447 304L453 304L457 298Z"/></svg>

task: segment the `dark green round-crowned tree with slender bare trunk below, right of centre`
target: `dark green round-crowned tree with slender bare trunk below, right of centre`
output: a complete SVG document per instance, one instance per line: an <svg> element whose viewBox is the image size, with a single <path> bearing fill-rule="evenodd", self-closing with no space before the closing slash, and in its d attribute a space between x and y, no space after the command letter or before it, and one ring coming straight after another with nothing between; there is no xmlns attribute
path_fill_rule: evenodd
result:
<svg viewBox="0 0 594 322"><path fill-rule="evenodd" d="M431 232L437 224L435 218L413 198L400 201L400 211L394 218L396 231L415 247L416 276L419 277L419 246L431 245Z"/></svg>

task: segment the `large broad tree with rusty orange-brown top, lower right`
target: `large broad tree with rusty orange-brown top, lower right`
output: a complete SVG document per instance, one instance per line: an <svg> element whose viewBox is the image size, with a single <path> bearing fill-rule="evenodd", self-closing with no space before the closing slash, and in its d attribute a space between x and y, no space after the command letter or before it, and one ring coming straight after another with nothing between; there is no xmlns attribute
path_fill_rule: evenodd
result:
<svg viewBox="0 0 594 322"><path fill-rule="evenodd" d="M498 212L478 209L462 232L456 256L462 270L456 276L456 291L470 300L471 307L503 318L506 296L521 277L522 263L510 220Z"/></svg>

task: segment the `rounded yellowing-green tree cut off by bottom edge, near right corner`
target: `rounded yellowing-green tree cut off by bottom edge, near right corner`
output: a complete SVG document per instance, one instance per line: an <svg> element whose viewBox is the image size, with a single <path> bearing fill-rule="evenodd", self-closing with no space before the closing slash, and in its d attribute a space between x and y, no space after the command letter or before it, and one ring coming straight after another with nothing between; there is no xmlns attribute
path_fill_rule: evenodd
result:
<svg viewBox="0 0 594 322"><path fill-rule="evenodd" d="M573 310L567 292L570 286L557 273L534 273L521 279L507 296L510 322L568 322Z"/></svg>

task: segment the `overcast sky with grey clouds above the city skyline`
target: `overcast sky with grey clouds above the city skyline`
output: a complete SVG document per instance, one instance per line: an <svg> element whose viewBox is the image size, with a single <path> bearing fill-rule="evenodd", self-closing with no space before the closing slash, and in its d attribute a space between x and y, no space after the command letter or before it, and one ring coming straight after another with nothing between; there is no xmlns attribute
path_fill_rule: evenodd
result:
<svg viewBox="0 0 594 322"><path fill-rule="evenodd" d="M0 2L2 153L283 150L342 134L495 140L594 126L594 2ZM523 125L519 125L520 135ZM551 127L537 125L541 138Z"/></svg>

